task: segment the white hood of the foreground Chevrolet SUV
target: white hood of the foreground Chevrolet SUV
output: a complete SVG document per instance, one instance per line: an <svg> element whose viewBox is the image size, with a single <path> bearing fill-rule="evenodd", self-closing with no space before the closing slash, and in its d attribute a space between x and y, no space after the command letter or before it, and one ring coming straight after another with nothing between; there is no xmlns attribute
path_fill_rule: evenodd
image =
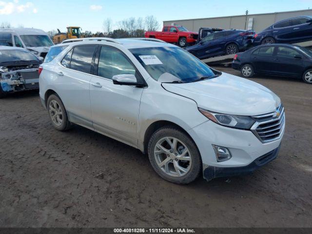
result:
<svg viewBox="0 0 312 234"><path fill-rule="evenodd" d="M268 88L227 73L192 83L162 83L165 90L193 99L197 106L212 112L256 116L274 112L280 105Z"/></svg>

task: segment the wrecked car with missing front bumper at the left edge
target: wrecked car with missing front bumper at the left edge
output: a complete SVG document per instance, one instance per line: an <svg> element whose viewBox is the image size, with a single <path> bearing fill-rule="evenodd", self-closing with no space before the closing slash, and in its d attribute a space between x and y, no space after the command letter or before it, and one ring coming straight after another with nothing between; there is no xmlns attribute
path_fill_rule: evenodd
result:
<svg viewBox="0 0 312 234"><path fill-rule="evenodd" d="M41 63L26 49L0 46L0 98L8 93L38 89Z"/></svg>

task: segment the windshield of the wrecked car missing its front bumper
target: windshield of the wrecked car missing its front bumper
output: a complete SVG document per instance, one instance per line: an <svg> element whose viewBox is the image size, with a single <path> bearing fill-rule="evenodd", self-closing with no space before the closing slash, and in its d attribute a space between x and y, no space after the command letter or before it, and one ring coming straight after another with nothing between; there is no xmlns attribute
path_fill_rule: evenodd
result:
<svg viewBox="0 0 312 234"><path fill-rule="evenodd" d="M31 61L39 59L32 53L25 50L0 50L0 63L13 61Z"/></svg>

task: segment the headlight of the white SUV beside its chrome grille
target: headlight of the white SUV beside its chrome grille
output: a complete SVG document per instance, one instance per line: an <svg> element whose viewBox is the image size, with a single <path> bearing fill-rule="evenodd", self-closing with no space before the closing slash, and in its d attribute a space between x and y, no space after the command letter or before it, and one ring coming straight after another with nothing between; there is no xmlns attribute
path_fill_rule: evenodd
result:
<svg viewBox="0 0 312 234"><path fill-rule="evenodd" d="M231 128L250 129L255 123L255 120L249 116L224 115L209 112L201 108L198 108L198 110L201 114L214 121L215 123Z"/></svg>

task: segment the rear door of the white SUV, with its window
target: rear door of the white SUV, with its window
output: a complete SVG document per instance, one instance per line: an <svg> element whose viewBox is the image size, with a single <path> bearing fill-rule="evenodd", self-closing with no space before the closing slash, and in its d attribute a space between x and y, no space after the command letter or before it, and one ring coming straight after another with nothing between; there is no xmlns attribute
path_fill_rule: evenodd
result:
<svg viewBox="0 0 312 234"><path fill-rule="evenodd" d="M97 45L74 47L55 69L61 79L57 93L64 103L70 121L88 128L92 128L90 80L96 48Z"/></svg>

